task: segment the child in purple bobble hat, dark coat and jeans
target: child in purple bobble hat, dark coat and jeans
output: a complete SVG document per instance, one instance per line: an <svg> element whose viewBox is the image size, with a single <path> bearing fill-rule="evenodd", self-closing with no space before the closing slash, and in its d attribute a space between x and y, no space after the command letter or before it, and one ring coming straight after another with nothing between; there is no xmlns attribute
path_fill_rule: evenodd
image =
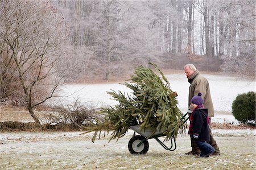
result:
<svg viewBox="0 0 256 170"><path fill-rule="evenodd" d="M188 134L190 134L191 140L196 140L196 144L201 151L200 157L209 157L215 149L208 143L210 142L208 110L204 109L204 100L201 96L202 94L199 92L191 99L193 111L189 117Z"/></svg>

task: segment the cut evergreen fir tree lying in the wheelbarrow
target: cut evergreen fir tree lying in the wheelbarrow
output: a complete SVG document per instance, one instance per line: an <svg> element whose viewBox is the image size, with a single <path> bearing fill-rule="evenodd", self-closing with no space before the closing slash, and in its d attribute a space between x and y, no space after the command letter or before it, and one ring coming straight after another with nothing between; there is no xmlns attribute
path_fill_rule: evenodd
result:
<svg viewBox="0 0 256 170"><path fill-rule="evenodd" d="M185 129L183 114L177 107L176 95L171 90L170 84L160 69L153 63L158 76L150 68L139 66L131 75L131 82L124 83L127 88L133 90L132 95L108 92L118 105L109 108L101 108L100 113L104 114L103 119L96 119L91 127L86 127L86 132L95 131L92 141L100 138L101 131L109 134L113 130L112 138L122 137L132 125L140 125L142 130L150 128L152 134L156 130L163 131L166 140L172 134L177 136L179 130ZM151 134L151 135L152 135Z"/></svg>

